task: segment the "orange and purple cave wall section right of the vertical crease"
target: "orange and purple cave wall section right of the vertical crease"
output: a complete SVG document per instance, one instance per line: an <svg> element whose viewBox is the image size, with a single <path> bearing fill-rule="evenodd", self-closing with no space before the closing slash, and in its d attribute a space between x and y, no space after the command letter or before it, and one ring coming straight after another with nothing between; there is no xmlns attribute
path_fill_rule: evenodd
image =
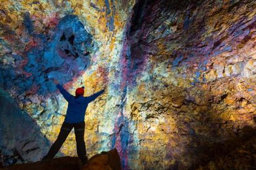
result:
<svg viewBox="0 0 256 170"><path fill-rule="evenodd" d="M135 4L121 57L129 168L197 168L255 137L255 7Z"/></svg>

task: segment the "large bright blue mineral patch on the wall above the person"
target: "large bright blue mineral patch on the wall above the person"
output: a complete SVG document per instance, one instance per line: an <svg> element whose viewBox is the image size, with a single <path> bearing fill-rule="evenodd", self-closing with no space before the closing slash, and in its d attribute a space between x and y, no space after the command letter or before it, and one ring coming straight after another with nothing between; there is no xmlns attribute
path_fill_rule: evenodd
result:
<svg viewBox="0 0 256 170"><path fill-rule="evenodd" d="M87 69L90 65L89 54L93 49L92 36L74 15L62 18L53 35L33 33L31 22L29 13L25 13L24 25L32 40L24 41L33 43L33 47L27 45L23 51L27 59L19 54L8 57L7 60L12 60L10 62L14 62L14 65L2 70L5 79L1 81L8 87L16 86L20 91L29 91L33 86L37 94L47 94L56 91L49 79L56 78L66 83ZM14 67L18 62L25 62L25 73L18 72L20 68Z"/></svg>

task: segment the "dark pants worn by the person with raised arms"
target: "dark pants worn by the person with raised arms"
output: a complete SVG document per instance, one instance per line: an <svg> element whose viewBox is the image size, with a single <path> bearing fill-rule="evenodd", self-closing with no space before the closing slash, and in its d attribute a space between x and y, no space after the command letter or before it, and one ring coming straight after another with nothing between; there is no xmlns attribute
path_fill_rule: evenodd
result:
<svg viewBox="0 0 256 170"><path fill-rule="evenodd" d="M62 144L66 140L72 128L75 128L75 141L77 142L77 155L79 156L82 163L87 162L86 149L85 149L85 141L83 140L83 136L85 133L85 122L82 121L80 123L66 123L64 122L61 126L61 131L59 132L59 136L57 140L51 145L48 154L43 158L43 160L53 158L56 153L61 148Z"/></svg>

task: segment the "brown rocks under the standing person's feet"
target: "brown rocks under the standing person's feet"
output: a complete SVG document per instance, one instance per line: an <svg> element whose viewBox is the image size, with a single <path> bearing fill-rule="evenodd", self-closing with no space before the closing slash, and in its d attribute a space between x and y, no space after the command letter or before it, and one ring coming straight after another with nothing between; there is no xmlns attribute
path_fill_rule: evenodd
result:
<svg viewBox="0 0 256 170"><path fill-rule="evenodd" d="M1 167L0 167L1 168ZM83 169L83 170L121 170L121 161L116 149L97 154L88 160L88 164L82 165L77 157L64 156L61 158L54 158L51 160L40 161L36 163L16 164L6 169L20 169L20 170L46 170L46 169Z"/></svg>

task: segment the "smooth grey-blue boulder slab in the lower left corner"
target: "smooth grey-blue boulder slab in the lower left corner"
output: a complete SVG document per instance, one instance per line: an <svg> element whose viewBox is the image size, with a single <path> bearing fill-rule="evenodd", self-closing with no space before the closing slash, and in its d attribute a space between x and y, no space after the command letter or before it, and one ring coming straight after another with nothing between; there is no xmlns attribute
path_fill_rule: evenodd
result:
<svg viewBox="0 0 256 170"><path fill-rule="evenodd" d="M40 127L17 102L0 89L0 162L9 166L40 160L49 148L49 140Z"/></svg>

